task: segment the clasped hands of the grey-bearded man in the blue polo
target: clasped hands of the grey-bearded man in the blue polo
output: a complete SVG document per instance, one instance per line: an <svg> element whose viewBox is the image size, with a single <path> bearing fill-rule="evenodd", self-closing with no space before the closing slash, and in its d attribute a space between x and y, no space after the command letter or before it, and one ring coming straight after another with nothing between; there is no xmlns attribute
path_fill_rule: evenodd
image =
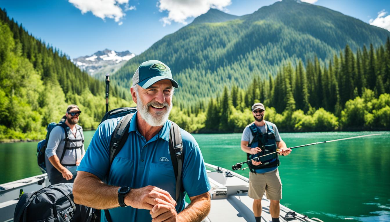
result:
<svg viewBox="0 0 390 222"><path fill-rule="evenodd" d="M158 187L146 186L132 189L126 195L125 204L133 208L150 210L152 222L177 221L176 201L169 192Z"/></svg>

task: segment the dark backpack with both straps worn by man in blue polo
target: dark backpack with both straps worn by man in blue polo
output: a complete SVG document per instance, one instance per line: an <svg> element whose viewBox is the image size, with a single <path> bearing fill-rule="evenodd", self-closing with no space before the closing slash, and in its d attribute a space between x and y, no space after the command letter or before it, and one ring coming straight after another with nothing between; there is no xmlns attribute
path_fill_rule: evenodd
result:
<svg viewBox="0 0 390 222"><path fill-rule="evenodd" d="M137 111L137 107L124 107L124 108L117 108L114 110L111 110L106 113L106 115L103 117L103 121L106 119L112 119L117 118L121 116L123 117L118 125L115 127L110 140L110 165L119 153L121 151L124 143L127 140L127 137L129 136L129 127L130 127L130 121L133 117L135 111ZM180 191L183 189L182 182L181 182L181 174L182 174L182 167L183 167L183 141L181 140L181 133L179 126L177 126L176 123L172 122L172 127L170 128L169 132L169 153L172 159L172 166L174 168L175 177L176 177L176 201L179 198ZM110 169L108 169L108 172L110 172ZM106 176L108 178L108 175ZM105 216L108 222L112 221L110 217L110 213L108 210L105 210Z"/></svg>

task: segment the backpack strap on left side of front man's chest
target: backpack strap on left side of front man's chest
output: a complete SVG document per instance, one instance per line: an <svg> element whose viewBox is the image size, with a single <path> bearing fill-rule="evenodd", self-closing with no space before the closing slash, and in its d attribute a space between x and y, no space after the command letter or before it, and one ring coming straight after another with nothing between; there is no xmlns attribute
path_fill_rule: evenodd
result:
<svg viewBox="0 0 390 222"><path fill-rule="evenodd" d="M121 151L124 143L127 140L127 137L129 136L129 127L130 127L130 121L133 117L132 114L125 115L121 121L119 121L118 125L115 127L110 140L110 165L108 168L108 172L110 172L110 167L112 162L114 161L115 156Z"/></svg>

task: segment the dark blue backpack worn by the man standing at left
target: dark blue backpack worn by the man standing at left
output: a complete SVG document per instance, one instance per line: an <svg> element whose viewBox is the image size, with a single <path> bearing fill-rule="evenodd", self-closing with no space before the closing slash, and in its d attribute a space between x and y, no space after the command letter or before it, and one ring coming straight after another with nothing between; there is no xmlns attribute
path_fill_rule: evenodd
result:
<svg viewBox="0 0 390 222"><path fill-rule="evenodd" d="M67 142L68 142L68 134L67 134L67 131L66 131L66 124L65 122L58 122L58 123L55 123L55 122L51 122L49 123L48 127L47 127L47 133L46 133L46 138L44 140L41 140L38 142L38 145L37 145L37 160L38 160L38 166L39 168L41 168L41 171L42 173L46 173L46 162L45 162L45 151L46 151L46 147L48 145L48 141L49 141L49 136L50 136L50 133L51 133L51 130L54 129L56 126L61 126L63 129L64 129L64 132L65 132L65 146L67 145ZM65 153L65 152L63 152ZM62 159L61 159L62 160Z"/></svg>

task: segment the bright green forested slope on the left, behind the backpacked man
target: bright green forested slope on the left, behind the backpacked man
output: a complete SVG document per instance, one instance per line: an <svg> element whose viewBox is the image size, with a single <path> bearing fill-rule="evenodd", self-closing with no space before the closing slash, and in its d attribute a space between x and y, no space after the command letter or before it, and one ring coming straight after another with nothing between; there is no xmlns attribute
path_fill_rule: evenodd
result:
<svg viewBox="0 0 390 222"><path fill-rule="evenodd" d="M121 94L111 87L111 107L131 105ZM82 110L83 128L96 128L105 114L105 83L0 10L0 142L44 138L47 124L60 121L72 103Z"/></svg>

